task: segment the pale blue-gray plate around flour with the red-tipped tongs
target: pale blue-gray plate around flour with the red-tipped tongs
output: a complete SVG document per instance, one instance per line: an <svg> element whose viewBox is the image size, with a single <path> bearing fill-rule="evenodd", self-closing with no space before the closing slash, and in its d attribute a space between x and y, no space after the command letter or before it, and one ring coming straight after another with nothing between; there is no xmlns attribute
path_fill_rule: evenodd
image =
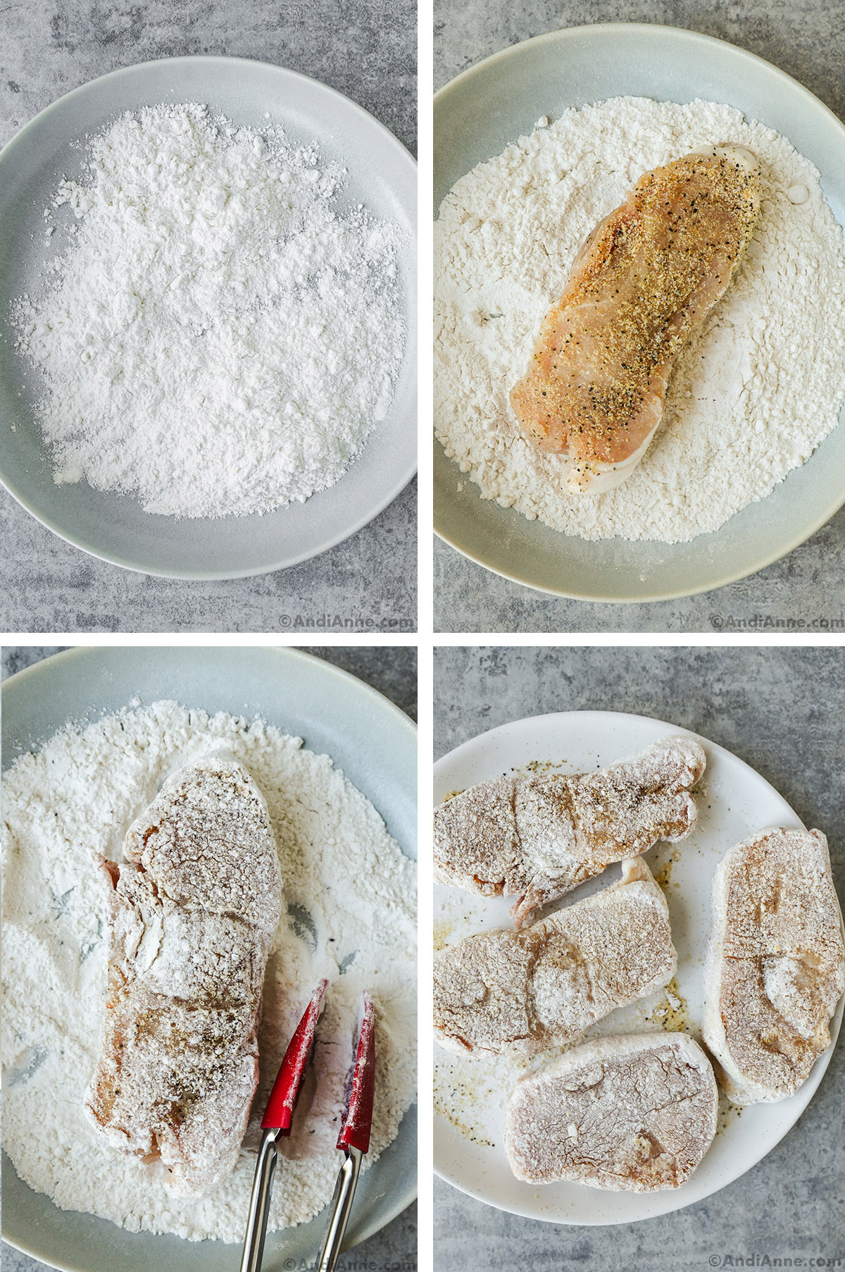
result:
<svg viewBox="0 0 845 1272"><path fill-rule="evenodd" d="M3 764L41 747L66 720L175 698L206 711L259 714L328 753L384 817L407 856L417 857L417 733L375 689L290 649L78 649L13 675L3 686ZM33 1127L33 1135L38 1128ZM338 1165L341 1155L338 1154ZM283 1186L283 1178L277 1179ZM417 1196L417 1107L361 1177L347 1248L395 1219ZM244 1225L247 1216L244 1215ZM325 1230L316 1216L267 1238L264 1272L310 1266ZM127 1233L93 1215L58 1210L22 1183L3 1155L3 1235L65 1272L233 1272L240 1249L222 1241ZM302 1262L300 1262L302 1261Z"/></svg>

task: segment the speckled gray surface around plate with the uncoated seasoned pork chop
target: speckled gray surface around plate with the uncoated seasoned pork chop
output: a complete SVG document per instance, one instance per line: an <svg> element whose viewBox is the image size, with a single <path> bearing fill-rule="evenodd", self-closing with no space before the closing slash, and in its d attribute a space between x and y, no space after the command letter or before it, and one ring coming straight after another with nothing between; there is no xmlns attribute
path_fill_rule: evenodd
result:
<svg viewBox="0 0 845 1272"><path fill-rule="evenodd" d="M841 0L435 0L435 86L489 53L559 27L654 22L728 39L806 84L845 118ZM718 631L726 618L845 618L845 509L750 579L653 604L563 600L499 579L435 541L436 631ZM840 628L841 630L841 628Z"/></svg>

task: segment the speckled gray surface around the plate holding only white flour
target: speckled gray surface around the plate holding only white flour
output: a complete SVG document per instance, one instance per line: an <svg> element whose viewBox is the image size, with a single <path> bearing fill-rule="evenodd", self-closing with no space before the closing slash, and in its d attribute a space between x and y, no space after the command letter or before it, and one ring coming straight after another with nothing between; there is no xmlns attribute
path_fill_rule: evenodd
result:
<svg viewBox="0 0 845 1272"><path fill-rule="evenodd" d="M5 0L0 145L62 93L155 57L229 53L304 71L381 120L412 150L414 0ZM283 631L296 616L417 627L417 487L323 556L276 574L180 581L86 556L0 490L0 630ZM295 630L295 628L294 628ZM366 630L357 625L352 630Z"/></svg>

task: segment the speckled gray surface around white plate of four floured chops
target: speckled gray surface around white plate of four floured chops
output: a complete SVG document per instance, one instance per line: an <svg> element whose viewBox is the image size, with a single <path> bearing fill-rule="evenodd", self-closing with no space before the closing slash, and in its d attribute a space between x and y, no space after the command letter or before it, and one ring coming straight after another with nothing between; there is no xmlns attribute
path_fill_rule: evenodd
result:
<svg viewBox="0 0 845 1272"><path fill-rule="evenodd" d="M845 895L844 647L435 651L436 758L510 720L579 710L651 715L727 747L771 782L806 824L825 831L834 878ZM766 1254L841 1258L845 1266L844 1098L840 1044L807 1112L764 1161L705 1201L640 1224L536 1222L436 1179L435 1267L685 1272L771 1266L762 1263ZM736 1262L755 1255L760 1262Z"/></svg>

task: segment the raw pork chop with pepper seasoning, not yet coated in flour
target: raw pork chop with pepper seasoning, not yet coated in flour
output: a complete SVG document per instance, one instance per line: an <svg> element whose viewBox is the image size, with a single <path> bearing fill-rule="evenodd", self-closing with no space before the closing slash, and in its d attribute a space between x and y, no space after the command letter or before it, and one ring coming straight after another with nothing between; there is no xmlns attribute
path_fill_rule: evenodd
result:
<svg viewBox="0 0 845 1272"><path fill-rule="evenodd" d="M582 247L511 392L526 438L572 458L573 490L609 490L646 454L672 366L748 244L760 191L750 151L694 151L640 177Z"/></svg>

